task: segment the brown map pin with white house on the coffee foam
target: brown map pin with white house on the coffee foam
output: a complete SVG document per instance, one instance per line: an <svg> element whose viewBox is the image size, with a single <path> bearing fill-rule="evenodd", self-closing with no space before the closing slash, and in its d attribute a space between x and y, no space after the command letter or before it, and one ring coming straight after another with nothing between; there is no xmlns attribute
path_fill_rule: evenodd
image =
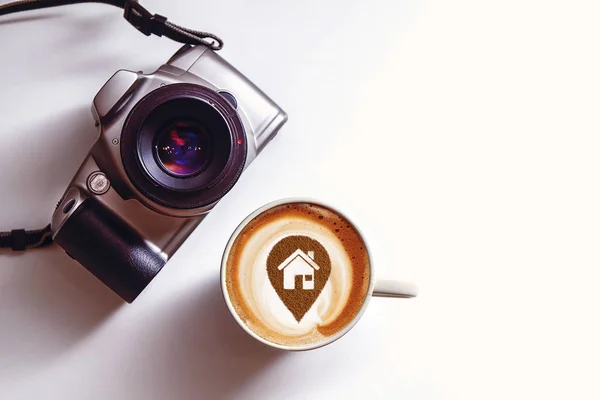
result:
<svg viewBox="0 0 600 400"><path fill-rule="evenodd" d="M267 274L283 304L300 322L329 280L331 260L318 241L287 236L269 252Z"/></svg>

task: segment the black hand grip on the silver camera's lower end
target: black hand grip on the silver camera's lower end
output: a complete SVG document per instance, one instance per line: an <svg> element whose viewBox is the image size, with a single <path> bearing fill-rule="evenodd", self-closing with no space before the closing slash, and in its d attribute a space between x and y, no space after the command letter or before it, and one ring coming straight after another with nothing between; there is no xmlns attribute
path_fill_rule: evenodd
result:
<svg viewBox="0 0 600 400"><path fill-rule="evenodd" d="M135 230L94 198L65 221L54 241L128 303L165 265Z"/></svg>

